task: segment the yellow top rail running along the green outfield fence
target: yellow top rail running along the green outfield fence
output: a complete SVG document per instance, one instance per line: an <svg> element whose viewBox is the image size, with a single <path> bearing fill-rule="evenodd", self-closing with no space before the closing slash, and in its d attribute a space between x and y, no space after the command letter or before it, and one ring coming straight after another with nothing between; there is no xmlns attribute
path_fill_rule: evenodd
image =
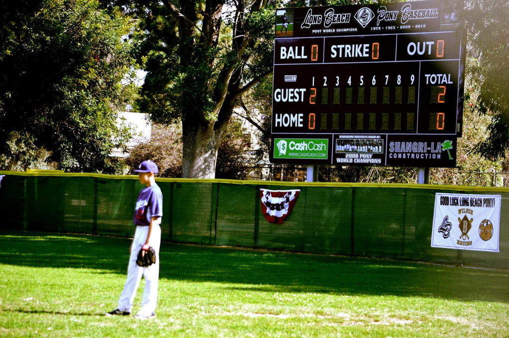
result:
<svg viewBox="0 0 509 338"><path fill-rule="evenodd" d="M136 175L105 175L94 173L64 173L58 170L28 170L27 172L0 171L0 175L15 176L56 176L56 177L93 177L114 180L137 180ZM278 185L289 187L369 187L369 188L412 188L455 191L492 191L509 192L509 187L471 187L464 185L406 184L406 183L327 183L327 182L279 182L279 181L241 181L226 179L188 179L188 178L156 178L157 182L178 183L229 183L244 185Z"/></svg>

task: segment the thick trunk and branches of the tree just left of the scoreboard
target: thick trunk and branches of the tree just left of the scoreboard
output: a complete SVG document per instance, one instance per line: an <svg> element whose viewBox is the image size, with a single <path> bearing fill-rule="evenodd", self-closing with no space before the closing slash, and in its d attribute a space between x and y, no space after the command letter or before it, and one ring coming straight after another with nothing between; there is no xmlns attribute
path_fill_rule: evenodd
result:
<svg viewBox="0 0 509 338"><path fill-rule="evenodd" d="M196 67L190 61L202 60L203 58L203 65L213 69L215 60L212 56L213 53L209 52L212 51L211 48L218 45L222 23L221 13L225 0L207 1L204 11L203 7L197 8L196 4L199 3L201 6L202 3L196 0L180 2L179 7L171 0L164 1L164 4L173 11L178 21L178 36L181 47L179 49L182 52L179 55L180 65L184 68L190 67L193 70L200 70L200 67ZM205 114L205 111L200 111L201 107L206 106L206 104L183 108L182 177L184 178L215 178L217 152L221 139L226 134L236 100L254 83L267 75L255 76L244 87L241 86L241 69L250 57L250 55L244 55L244 52L253 39L253 37L246 34L243 26L244 11L249 7L251 8L250 11L258 11L266 4L267 0L254 0L249 4L246 0L239 0L236 4L237 12L232 33L233 46L229 55L230 60L221 63L222 69L219 71L217 78L207 75L207 72L203 74L204 76L201 76L200 71L193 77L197 87L212 90L210 101L214 102L214 106L207 114ZM197 13L203 15L201 27L196 25L198 21ZM195 34L195 30L200 33ZM196 41L198 35L199 39ZM197 48L184 48L191 45ZM200 51L197 51L198 49ZM200 59L196 59L196 57ZM193 111L193 109L195 110ZM209 120L211 116L215 120Z"/></svg>

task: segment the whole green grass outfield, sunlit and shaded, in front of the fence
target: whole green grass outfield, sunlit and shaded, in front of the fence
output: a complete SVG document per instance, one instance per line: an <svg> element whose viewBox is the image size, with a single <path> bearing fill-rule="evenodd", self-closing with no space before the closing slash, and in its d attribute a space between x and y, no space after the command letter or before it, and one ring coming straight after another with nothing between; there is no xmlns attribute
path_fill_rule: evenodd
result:
<svg viewBox="0 0 509 338"><path fill-rule="evenodd" d="M0 337L509 336L509 271L171 243L158 317L105 317L129 243L0 232Z"/></svg>

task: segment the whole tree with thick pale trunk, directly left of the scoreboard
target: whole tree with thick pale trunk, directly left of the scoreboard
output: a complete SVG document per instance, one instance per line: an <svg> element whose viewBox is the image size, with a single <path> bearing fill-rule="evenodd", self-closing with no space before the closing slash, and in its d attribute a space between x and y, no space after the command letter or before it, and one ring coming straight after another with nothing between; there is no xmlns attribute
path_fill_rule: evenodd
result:
<svg viewBox="0 0 509 338"><path fill-rule="evenodd" d="M132 38L148 71L139 106L156 123L182 122L183 177L214 178L237 100L272 72L274 10L267 2L106 2L139 20Z"/></svg>

